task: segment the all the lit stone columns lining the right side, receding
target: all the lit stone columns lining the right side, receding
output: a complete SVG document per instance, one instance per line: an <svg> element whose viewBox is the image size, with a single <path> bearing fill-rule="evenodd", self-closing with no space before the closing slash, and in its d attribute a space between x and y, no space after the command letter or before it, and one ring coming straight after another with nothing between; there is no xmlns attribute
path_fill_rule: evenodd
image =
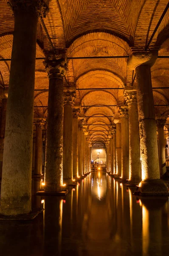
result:
<svg viewBox="0 0 169 256"><path fill-rule="evenodd" d="M160 180L166 172L163 133L166 119L160 117L156 123L151 83L150 67L156 58L157 55L154 53L132 55L129 66L131 63L134 65L137 88L125 87L124 98L127 105L119 108L121 118L114 119L116 172L113 170L112 173L121 175L121 180L128 180L128 185L139 184L139 192L146 195L167 193L166 185ZM141 64L138 64L140 61ZM156 125L159 143L157 143ZM114 127L112 131L115 133ZM108 158L107 166L107 170L110 171Z"/></svg>

